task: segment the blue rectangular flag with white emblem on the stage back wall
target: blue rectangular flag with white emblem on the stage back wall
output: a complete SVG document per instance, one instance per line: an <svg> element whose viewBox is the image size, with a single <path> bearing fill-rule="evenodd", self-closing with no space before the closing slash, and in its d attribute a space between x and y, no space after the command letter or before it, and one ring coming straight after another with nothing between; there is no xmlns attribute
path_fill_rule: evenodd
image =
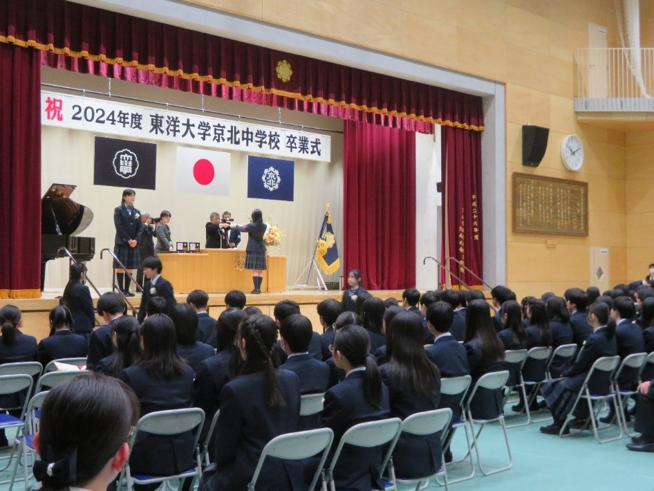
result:
<svg viewBox="0 0 654 491"><path fill-rule="evenodd" d="M292 160L247 157L247 197L293 201L294 172Z"/></svg>

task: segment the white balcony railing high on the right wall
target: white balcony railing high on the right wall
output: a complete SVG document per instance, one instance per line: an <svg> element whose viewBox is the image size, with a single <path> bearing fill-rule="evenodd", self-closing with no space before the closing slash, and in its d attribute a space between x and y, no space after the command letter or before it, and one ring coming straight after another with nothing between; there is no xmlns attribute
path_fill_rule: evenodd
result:
<svg viewBox="0 0 654 491"><path fill-rule="evenodd" d="M574 56L575 111L654 111L654 48L585 48Z"/></svg>

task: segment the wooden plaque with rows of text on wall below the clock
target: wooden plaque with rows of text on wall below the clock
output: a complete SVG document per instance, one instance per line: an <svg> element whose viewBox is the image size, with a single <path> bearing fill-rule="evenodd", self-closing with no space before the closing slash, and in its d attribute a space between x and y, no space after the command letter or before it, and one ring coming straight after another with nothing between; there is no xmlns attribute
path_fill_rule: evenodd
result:
<svg viewBox="0 0 654 491"><path fill-rule="evenodd" d="M513 174L513 230L588 235L588 183Z"/></svg>

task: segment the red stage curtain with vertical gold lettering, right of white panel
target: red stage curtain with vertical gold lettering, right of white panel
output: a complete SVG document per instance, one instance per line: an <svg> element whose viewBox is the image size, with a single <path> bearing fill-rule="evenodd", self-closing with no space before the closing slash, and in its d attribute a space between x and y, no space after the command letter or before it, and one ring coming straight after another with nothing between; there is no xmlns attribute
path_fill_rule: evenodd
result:
<svg viewBox="0 0 654 491"><path fill-rule="evenodd" d="M479 279L447 258L455 257L482 277L481 133L442 127L441 158L444 183L441 262L467 285L479 286ZM455 278L452 283L457 284Z"/></svg>

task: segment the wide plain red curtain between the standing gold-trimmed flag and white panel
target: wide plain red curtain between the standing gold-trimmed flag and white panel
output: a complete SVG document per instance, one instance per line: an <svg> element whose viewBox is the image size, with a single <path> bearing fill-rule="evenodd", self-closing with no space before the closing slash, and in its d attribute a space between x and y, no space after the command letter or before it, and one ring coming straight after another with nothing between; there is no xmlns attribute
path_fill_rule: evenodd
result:
<svg viewBox="0 0 654 491"><path fill-rule="evenodd" d="M359 268L371 290L413 287L415 134L354 121L344 126L344 274Z"/></svg>

